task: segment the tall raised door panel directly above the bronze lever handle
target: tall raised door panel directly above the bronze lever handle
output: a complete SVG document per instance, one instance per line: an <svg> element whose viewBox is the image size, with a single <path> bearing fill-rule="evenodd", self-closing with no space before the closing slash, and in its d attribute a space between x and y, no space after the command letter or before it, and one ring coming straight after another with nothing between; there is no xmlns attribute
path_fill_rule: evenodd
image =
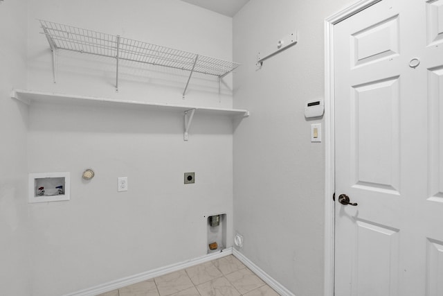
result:
<svg viewBox="0 0 443 296"><path fill-rule="evenodd" d="M399 77L352 87L350 104L353 187L399 194Z"/></svg>

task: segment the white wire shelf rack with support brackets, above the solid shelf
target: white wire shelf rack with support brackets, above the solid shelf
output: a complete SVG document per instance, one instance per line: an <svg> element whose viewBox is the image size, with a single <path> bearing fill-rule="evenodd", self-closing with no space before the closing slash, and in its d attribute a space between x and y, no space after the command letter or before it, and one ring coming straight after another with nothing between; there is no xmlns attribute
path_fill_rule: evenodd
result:
<svg viewBox="0 0 443 296"><path fill-rule="evenodd" d="M239 67L238 63L211 58L197 53L127 39L119 35L100 33L84 28L67 26L52 21L39 20L43 34L53 51L55 81L55 52L59 49L77 51L116 59L116 89L118 89L118 62L127 60L174 69L190 71L183 98L188 89L192 73L203 73L221 78Z"/></svg>

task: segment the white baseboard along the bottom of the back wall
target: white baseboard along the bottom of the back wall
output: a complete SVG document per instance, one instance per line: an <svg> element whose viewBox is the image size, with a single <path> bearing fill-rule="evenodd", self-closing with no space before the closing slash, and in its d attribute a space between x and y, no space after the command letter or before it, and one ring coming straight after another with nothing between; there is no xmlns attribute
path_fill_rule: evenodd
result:
<svg viewBox="0 0 443 296"><path fill-rule="evenodd" d="M142 272L142 273L139 273L138 275L124 277L123 279L116 279L115 281L109 281L105 284L101 284L99 286L80 290L75 293L66 294L64 296L95 296L98 294L109 292L111 290L116 290L118 288L123 288L125 286L136 284L140 281L146 281L147 279L154 279L154 277L160 277L162 275L167 275L170 272L182 270L183 268L189 268L194 265L198 265L198 264L205 263L205 262L208 262L211 260L219 259L224 256L228 256L230 254L233 254L232 247L228 247L228 248L224 249L222 252L207 254L207 255L204 255L204 256L201 256L201 257L198 257L195 259L190 259L190 260L183 261L180 263L168 265L168 266L165 266L162 268L156 268L154 270Z"/></svg>

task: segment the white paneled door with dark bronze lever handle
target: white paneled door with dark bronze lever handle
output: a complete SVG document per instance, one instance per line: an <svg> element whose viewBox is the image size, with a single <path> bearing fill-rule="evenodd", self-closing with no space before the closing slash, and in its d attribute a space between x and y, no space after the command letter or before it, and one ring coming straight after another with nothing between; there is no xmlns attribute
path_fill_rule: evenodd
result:
<svg viewBox="0 0 443 296"><path fill-rule="evenodd" d="M336 24L334 78L335 295L443 296L443 0Z"/></svg>

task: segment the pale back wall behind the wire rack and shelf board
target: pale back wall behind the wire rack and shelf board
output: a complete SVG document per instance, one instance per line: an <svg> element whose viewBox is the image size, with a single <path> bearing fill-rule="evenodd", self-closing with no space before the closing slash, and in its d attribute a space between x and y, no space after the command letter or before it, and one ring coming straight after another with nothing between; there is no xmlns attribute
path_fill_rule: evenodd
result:
<svg viewBox="0 0 443 296"><path fill-rule="evenodd" d="M124 65L116 93L114 60L73 53L59 53L54 84L35 19L231 60L228 17L182 1L30 0L28 89L232 106L229 89L219 95L214 78L197 76L183 100L186 74L134 64ZM28 171L71 172L70 201L29 205L33 295L62 295L206 254L205 216L224 212L232 229L232 132L230 119L196 113L185 142L181 113L31 105ZM90 182L81 179L85 168L96 172ZM196 184L183 184L185 172L196 173ZM117 192L117 177L128 177L126 193Z"/></svg>

